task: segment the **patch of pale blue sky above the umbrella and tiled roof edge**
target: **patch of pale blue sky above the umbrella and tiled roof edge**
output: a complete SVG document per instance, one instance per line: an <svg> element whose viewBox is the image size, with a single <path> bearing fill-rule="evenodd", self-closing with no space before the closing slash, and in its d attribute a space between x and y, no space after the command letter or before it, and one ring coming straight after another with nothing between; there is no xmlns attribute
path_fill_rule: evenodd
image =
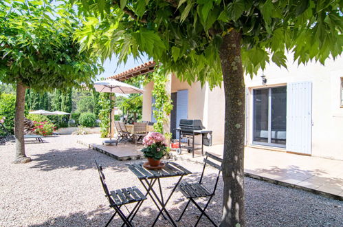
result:
<svg viewBox="0 0 343 227"><path fill-rule="evenodd" d="M143 63L148 62L148 56L142 56L141 59L133 59L133 57L130 57L127 61L126 64L122 63L117 66L118 63L118 58L115 56L112 56L111 61L107 59L104 61L104 72L100 75L97 76L97 78L107 78L109 76L113 76L116 74L120 74L121 72L126 71L127 69L131 69L133 67L136 67L138 65L142 65Z"/></svg>

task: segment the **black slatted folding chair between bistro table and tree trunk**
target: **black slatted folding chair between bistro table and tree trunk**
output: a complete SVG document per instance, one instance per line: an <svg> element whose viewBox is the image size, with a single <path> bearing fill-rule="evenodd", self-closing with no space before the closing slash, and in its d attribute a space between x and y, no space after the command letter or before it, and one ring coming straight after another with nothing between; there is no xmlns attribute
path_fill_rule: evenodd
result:
<svg viewBox="0 0 343 227"><path fill-rule="evenodd" d="M208 153L208 152L206 152L205 155L206 155L206 158L203 160L203 162L205 162L205 163L203 164L203 171L201 173L199 183L188 183L188 182L184 181L184 182L181 182L179 184L179 189L180 189L181 193L184 194L184 196L189 200L188 200L188 203L186 204L186 207L184 208L184 211L182 211L182 213L181 213L181 215L177 221L181 220L181 217L184 215L188 205L190 204L190 202L192 202L201 211L201 215L199 216L195 226L197 226L197 224L199 224L199 221L203 215L205 215L211 221L211 223L214 226L217 226L217 224L215 224L214 221L210 217L208 217L208 215L205 213L205 210L208 207L208 204L210 204L210 201L211 201L212 197L214 196L214 193L217 189L219 176L221 174L221 164L220 165L216 164L216 163L208 160L208 158L212 158L213 160L216 160L217 162L220 162L220 163L222 163L223 160L221 158L215 156L215 155ZM203 180L203 173L205 172L206 164L209 164L210 166L219 170L219 173L217 175L217 179L216 179L216 182L214 184L214 188L212 191L210 191L208 188L203 186L203 184L201 182ZM204 208L201 208L199 206L199 204L197 204L197 202L195 202L195 199L200 198L200 197L208 197L208 202Z"/></svg>

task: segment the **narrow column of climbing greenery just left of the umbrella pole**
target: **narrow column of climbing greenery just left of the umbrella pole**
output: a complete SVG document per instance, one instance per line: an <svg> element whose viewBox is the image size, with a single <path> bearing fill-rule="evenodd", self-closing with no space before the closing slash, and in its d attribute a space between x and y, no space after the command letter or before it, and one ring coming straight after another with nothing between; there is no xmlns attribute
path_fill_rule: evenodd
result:
<svg viewBox="0 0 343 227"><path fill-rule="evenodd" d="M109 135L109 93L99 94L99 107L100 134L102 138L105 138Z"/></svg>

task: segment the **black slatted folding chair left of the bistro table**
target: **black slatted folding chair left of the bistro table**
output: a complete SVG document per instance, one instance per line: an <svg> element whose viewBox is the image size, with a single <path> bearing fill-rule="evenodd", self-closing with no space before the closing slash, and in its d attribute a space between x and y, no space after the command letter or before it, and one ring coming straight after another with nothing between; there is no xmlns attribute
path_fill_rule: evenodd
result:
<svg viewBox="0 0 343 227"><path fill-rule="evenodd" d="M95 160L96 162L96 160ZM109 200L109 206L115 210L115 213L112 215L111 219L107 222L106 226L110 224L113 217L118 213L124 224L122 226L133 226L131 221L135 217L137 211L139 210L140 206L142 205L143 201L146 199L146 196L138 189L137 187L133 186L130 188L121 188L115 191L109 191L107 188L107 184L105 183L104 173L102 173L102 166L98 165L96 162L96 167L99 172L100 181L102 184L102 188L104 188L105 197ZM133 210L129 212L129 215L126 217L120 208L125 206L126 204L131 204L133 202L137 202ZM125 206L126 207L126 206ZM128 208L126 210L129 211Z"/></svg>

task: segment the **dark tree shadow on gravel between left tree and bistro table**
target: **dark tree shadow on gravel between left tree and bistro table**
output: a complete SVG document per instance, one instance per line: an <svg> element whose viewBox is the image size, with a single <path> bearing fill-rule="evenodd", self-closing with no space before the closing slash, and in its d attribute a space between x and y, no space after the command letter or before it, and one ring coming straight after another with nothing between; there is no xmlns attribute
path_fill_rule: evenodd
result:
<svg viewBox="0 0 343 227"><path fill-rule="evenodd" d="M107 167L115 171L127 171L125 163L115 160L103 153L91 149L70 148L65 150L52 149L45 153L31 155L34 166L32 169L41 171L52 171L63 168L73 168L74 170L96 169L94 160L97 160L104 169Z"/></svg>

